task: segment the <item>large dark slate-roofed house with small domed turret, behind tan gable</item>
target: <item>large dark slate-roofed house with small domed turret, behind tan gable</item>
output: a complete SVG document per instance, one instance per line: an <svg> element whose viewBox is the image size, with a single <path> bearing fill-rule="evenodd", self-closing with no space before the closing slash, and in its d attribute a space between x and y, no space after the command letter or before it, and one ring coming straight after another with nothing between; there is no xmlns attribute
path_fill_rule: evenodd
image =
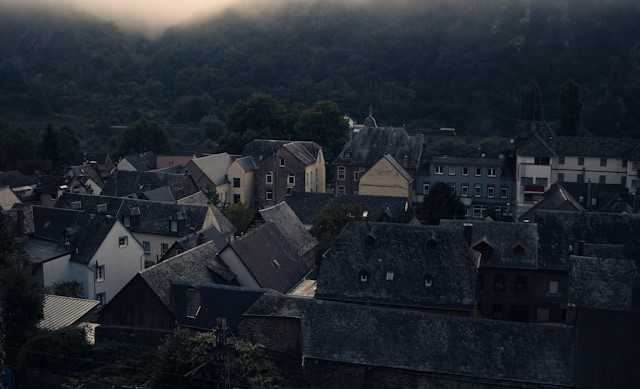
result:
<svg viewBox="0 0 640 389"><path fill-rule="evenodd" d="M332 163L335 169L332 184L336 194L358 194L360 179L387 154L411 177L416 177L424 136L410 136L404 128L376 127L374 120L369 120L368 125L352 131L351 138ZM386 195L375 190L368 193Z"/></svg>

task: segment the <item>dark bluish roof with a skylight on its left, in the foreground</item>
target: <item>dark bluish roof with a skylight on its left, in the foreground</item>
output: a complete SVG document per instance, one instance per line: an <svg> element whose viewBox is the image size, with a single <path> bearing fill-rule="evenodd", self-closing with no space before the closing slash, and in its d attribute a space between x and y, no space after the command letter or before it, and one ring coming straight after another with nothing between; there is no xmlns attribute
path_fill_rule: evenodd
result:
<svg viewBox="0 0 640 389"><path fill-rule="evenodd" d="M196 286L200 310L196 317L187 317L186 291L193 288L188 283L172 285L173 311L180 326L204 330L215 328L218 318L225 318L229 328L235 330L242 314L267 291L228 285Z"/></svg>

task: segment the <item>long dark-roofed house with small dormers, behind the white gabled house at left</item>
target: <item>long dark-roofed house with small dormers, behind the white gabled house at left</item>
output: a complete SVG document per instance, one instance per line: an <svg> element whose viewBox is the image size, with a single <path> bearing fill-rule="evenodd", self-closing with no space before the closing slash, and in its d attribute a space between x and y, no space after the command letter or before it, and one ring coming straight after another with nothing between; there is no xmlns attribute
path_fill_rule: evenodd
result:
<svg viewBox="0 0 640 389"><path fill-rule="evenodd" d="M111 196L65 193L56 207L117 219L140 242L147 264L157 263L177 239L210 226L220 228L228 222L215 207Z"/></svg>

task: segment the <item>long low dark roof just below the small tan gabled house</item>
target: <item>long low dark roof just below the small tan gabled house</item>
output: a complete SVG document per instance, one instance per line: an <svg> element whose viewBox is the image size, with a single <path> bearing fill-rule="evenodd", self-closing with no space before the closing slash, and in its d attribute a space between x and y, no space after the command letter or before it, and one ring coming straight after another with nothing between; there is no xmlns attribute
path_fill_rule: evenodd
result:
<svg viewBox="0 0 640 389"><path fill-rule="evenodd" d="M398 221L408 210L407 199L387 196L335 195L333 193L294 192L286 203L305 225L312 225L324 209L347 204L358 204L368 212L371 221Z"/></svg>

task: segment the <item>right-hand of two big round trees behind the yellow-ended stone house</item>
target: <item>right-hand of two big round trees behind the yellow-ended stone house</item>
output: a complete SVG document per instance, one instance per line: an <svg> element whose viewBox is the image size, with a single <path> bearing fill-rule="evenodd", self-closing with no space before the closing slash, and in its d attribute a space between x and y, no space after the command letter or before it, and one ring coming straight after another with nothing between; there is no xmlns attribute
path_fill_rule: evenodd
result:
<svg viewBox="0 0 640 389"><path fill-rule="evenodd" d="M333 160L344 145L349 124L336 103L321 101L302 111L295 129L298 139L317 142L324 148L325 158Z"/></svg>

